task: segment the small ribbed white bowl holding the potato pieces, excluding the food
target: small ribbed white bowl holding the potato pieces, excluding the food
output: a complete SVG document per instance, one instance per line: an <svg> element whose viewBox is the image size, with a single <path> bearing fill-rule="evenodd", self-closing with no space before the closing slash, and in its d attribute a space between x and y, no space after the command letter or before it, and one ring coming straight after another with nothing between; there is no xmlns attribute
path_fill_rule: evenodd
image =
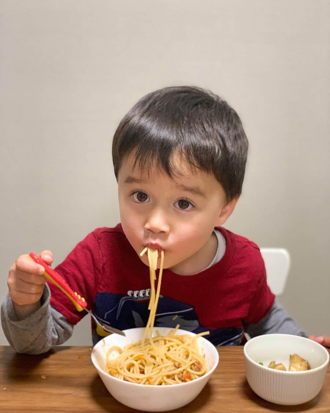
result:
<svg viewBox="0 0 330 413"><path fill-rule="evenodd" d="M267 367L275 360L288 370L290 354L307 360L311 370L282 371ZM329 353L313 340L290 334L266 334L244 345L246 378L262 399L276 404L306 403L320 392L329 363ZM262 362L263 366L259 363Z"/></svg>

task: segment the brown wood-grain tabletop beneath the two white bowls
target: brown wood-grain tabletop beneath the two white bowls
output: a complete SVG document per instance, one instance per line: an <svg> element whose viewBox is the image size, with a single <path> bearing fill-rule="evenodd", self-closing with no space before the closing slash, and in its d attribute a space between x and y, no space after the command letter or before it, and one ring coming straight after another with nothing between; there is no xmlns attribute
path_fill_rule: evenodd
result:
<svg viewBox="0 0 330 413"><path fill-rule="evenodd" d="M218 347L220 361L199 396L176 412L330 412L330 368L321 392L300 406L264 401L245 377L243 347ZM91 347L56 347L46 354L16 354L0 347L0 411L137 412L117 402L91 362Z"/></svg>

